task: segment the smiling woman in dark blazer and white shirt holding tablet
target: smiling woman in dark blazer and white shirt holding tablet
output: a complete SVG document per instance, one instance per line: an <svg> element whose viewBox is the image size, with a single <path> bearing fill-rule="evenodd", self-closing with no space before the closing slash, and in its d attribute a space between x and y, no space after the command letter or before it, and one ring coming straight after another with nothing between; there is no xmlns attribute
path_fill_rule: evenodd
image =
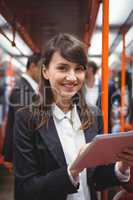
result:
<svg viewBox="0 0 133 200"><path fill-rule="evenodd" d="M16 115L16 200L95 200L96 189L128 180L125 162L71 169L81 146L102 133L101 115L96 108L87 107L82 95L86 64L84 45L75 37L59 34L48 42L40 101ZM133 152L129 153L127 161L131 165Z"/></svg>

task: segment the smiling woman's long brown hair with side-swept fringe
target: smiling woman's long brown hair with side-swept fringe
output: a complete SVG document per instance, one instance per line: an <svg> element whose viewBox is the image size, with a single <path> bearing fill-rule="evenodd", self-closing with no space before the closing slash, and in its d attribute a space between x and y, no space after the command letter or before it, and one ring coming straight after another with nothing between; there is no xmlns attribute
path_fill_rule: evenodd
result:
<svg viewBox="0 0 133 200"><path fill-rule="evenodd" d="M55 52L59 52L63 58L70 62L84 66L86 69L87 56L84 44L70 34L60 33L54 36L46 45L44 55L42 57L43 67L48 68L52 56ZM34 113L39 119L39 126L46 124L51 114L51 104L53 103L53 93L50 87L49 80L46 80L42 74L40 80L40 97L41 103L39 106L34 106ZM79 107L82 115L82 128L87 128L94 122L94 117L90 109L85 103L82 91L79 91L72 99L73 103Z"/></svg>

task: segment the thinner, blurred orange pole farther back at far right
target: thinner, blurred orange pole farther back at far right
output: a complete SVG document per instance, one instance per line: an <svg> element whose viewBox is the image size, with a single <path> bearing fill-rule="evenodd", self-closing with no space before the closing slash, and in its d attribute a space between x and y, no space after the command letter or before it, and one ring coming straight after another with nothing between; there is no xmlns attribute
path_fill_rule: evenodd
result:
<svg viewBox="0 0 133 200"><path fill-rule="evenodd" d="M124 105L125 105L125 83L126 83L126 55L125 55L125 32L122 33L123 49L122 49L122 63L121 63L121 131L124 131Z"/></svg>

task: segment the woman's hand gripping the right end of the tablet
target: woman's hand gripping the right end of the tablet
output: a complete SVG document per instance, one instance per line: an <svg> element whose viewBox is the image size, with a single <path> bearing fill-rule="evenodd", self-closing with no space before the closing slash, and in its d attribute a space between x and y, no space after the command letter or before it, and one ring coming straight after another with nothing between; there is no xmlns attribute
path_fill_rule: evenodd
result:
<svg viewBox="0 0 133 200"><path fill-rule="evenodd" d="M119 162L118 167L122 173L125 173L127 169L133 167L133 147L129 147L123 150L122 153L118 155Z"/></svg>

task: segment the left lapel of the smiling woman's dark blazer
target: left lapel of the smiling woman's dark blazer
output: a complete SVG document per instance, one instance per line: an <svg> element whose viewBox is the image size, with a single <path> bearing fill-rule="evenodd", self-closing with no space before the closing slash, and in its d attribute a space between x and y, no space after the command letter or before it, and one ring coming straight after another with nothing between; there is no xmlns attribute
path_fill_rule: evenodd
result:
<svg viewBox="0 0 133 200"><path fill-rule="evenodd" d="M58 164L62 167L67 165L64 152L62 149L62 145L60 143L60 139L58 137L56 127L53 121L53 118L50 117L48 126L42 127L39 130L41 137L45 144L47 145L48 149L50 150L51 154L55 158L55 160L58 162Z"/></svg>

